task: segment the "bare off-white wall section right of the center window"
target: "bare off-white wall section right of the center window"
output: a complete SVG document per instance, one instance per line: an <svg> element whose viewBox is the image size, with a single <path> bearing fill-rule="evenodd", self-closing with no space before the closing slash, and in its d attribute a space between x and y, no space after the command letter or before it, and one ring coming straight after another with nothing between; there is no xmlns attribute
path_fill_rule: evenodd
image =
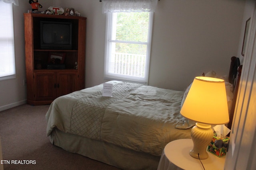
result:
<svg viewBox="0 0 256 170"><path fill-rule="evenodd" d="M237 53L243 10L241 0L160 0L149 84L183 90L202 72L228 74L230 58Z"/></svg>

